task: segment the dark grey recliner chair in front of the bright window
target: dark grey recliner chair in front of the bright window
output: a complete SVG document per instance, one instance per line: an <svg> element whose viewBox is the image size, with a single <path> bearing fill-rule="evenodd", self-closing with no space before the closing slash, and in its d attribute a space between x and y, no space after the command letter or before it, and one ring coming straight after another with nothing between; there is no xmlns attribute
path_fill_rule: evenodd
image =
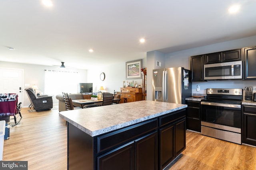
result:
<svg viewBox="0 0 256 170"><path fill-rule="evenodd" d="M34 93L34 89L31 87L25 88L25 90L28 94L28 98L31 102L31 105L34 107L36 111L46 111L52 109L52 96L36 96L36 94Z"/></svg>

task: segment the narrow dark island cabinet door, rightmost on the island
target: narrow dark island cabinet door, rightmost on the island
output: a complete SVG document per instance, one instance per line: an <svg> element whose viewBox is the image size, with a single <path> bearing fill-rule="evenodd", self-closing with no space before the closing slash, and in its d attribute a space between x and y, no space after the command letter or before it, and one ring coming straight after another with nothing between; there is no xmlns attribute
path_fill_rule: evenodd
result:
<svg viewBox="0 0 256 170"><path fill-rule="evenodd" d="M175 156L186 149L186 117L175 125Z"/></svg>

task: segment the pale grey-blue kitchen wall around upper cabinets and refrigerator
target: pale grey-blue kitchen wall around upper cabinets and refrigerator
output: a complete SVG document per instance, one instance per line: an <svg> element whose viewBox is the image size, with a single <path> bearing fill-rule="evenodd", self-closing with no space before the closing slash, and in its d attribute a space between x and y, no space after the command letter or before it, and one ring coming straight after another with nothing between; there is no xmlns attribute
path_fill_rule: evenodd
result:
<svg viewBox="0 0 256 170"><path fill-rule="evenodd" d="M201 55L207 53L214 53L218 51L226 51L231 49L238 49L242 47L250 47L256 45L256 36L247 37L243 39L237 39L233 41L226 41L224 43L217 43L213 45L202 46L194 49L188 49L183 51L178 51L175 53L168 53L165 55L165 66L166 67L177 67L182 66L184 68L190 69L190 56ZM153 54L153 57L152 57ZM147 67L151 70L148 72L152 72L154 69L155 62L157 60L156 53L148 52L147 59L148 65ZM153 59L154 58L154 59ZM150 62L149 62L150 61ZM148 75L148 79L149 79ZM152 77L152 76L151 76ZM151 79L152 81L152 79ZM200 86L200 91L196 92L196 85ZM205 94L206 88L244 88L246 86L256 86L256 80L216 80L216 81L208 81L208 82L192 82L192 94ZM152 86L147 90L147 100L152 100Z"/></svg>

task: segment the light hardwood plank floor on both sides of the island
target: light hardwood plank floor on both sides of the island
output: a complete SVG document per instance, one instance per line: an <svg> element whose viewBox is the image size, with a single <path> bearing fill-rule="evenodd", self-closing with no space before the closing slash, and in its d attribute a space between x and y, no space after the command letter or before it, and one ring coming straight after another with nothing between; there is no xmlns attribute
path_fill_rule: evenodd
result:
<svg viewBox="0 0 256 170"><path fill-rule="evenodd" d="M27 160L29 170L67 169L66 121L58 109L28 113L10 128L3 160ZM187 131L186 150L168 170L256 170L256 148Z"/></svg>

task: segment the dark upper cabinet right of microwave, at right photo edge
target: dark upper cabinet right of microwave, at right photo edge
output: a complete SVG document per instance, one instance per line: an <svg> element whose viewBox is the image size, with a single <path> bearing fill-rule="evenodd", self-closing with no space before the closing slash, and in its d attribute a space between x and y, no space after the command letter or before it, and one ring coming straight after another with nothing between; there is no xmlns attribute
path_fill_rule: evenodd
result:
<svg viewBox="0 0 256 170"><path fill-rule="evenodd" d="M256 79L256 46L244 48L244 79Z"/></svg>

